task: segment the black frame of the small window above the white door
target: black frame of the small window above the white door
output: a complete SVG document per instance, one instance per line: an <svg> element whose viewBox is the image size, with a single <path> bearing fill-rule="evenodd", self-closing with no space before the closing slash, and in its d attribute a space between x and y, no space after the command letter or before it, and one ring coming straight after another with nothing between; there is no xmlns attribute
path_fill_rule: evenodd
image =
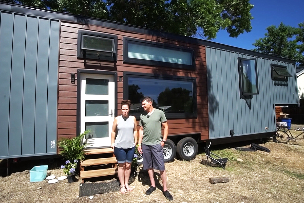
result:
<svg viewBox="0 0 304 203"><path fill-rule="evenodd" d="M101 38L107 38L114 40L114 53L113 57L109 56L92 56L92 55L86 55L82 54L81 52L81 41L82 41L82 35L86 36L92 36L92 37L101 37ZM78 36L77 36L77 58L85 58L85 59L94 59L94 60L100 60L100 61L117 61L117 39L118 37L116 35L110 35L100 32L91 32L87 30L78 30Z"/></svg>

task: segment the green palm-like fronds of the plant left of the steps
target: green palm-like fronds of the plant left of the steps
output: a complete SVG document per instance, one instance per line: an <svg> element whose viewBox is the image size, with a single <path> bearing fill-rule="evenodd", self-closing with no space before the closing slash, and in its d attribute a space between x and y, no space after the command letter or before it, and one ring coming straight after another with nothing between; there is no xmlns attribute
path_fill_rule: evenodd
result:
<svg viewBox="0 0 304 203"><path fill-rule="evenodd" d="M86 145L83 145L82 141L89 130L76 136L74 138L64 138L60 140L57 145L59 146L59 154L64 156L69 161L82 161L85 159L84 149Z"/></svg>

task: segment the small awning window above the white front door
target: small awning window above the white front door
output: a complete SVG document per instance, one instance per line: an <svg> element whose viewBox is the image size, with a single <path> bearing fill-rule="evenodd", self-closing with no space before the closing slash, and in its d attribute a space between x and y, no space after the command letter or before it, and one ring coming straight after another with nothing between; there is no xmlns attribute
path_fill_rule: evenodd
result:
<svg viewBox="0 0 304 203"><path fill-rule="evenodd" d="M117 61L117 36L78 30L77 57Z"/></svg>

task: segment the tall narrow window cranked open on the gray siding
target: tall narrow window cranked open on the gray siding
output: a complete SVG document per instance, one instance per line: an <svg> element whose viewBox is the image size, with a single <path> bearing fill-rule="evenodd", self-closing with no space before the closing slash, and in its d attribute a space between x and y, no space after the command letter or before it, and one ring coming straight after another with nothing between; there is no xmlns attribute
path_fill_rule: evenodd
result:
<svg viewBox="0 0 304 203"><path fill-rule="evenodd" d="M259 94L257 82L257 59L238 58L241 95Z"/></svg>

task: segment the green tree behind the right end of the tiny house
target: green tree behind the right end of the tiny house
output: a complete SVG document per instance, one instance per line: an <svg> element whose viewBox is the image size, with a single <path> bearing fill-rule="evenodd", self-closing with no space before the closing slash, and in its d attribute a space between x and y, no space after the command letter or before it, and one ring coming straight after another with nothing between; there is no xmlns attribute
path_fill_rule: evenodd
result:
<svg viewBox="0 0 304 203"><path fill-rule="evenodd" d="M299 24L300 25L300 24ZM300 28L295 28L292 26L286 26L280 23L278 27L271 25L266 28L267 33L265 33L264 38L255 40L255 49L253 51L258 51L264 54L271 54L278 57L289 58L297 61L297 65L303 63L303 51L301 51L302 45L300 33L303 31Z"/></svg>

